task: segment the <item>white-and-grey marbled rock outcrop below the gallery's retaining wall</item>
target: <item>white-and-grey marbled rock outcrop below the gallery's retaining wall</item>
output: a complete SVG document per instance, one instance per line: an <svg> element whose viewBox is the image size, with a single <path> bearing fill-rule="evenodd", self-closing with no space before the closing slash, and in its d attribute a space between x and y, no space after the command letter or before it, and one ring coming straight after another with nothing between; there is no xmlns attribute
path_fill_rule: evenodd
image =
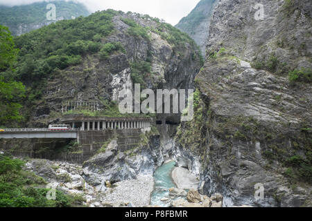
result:
<svg viewBox="0 0 312 221"><path fill-rule="evenodd" d="M150 141L122 151L116 140L112 140L103 153L83 163L83 168L89 171L86 180L93 185L105 186L107 180L114 184L136 179L137 175L152 177L164 159L159 136L146 135L146 140Z"/></svg>

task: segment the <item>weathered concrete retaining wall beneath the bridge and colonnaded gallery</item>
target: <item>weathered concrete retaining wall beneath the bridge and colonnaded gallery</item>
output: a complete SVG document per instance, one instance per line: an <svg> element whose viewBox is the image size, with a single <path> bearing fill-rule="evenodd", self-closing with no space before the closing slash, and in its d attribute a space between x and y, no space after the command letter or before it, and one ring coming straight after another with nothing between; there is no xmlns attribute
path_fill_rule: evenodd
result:
<svg viewBox="0 0 312 221"><path fill-rule="evenodd" d="M119 151L139 145L141 129L78 131L76 139L0 139L0 150L17 157L61 160L82 164L98 153L107 142L116 139ZM76 142L76 143L75 143ZM71 148L69 144L75 143Z"/></svg>

